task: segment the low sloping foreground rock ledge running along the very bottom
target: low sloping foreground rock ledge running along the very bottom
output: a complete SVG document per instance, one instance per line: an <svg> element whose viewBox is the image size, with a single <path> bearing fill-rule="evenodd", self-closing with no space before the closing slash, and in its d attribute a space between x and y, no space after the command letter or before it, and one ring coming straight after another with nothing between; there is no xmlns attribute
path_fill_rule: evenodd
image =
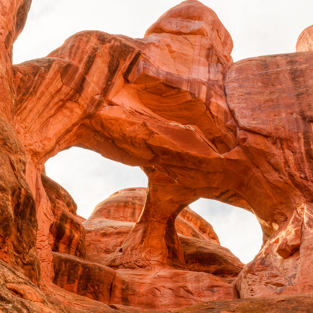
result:
<svg viewBox="0 0 313 313"><path fill-rule="evenodd" d="M54 284L49 284L49 286L43 288L43 291L47 294L44 295L36 285L32 284L25 276L13 270L3 261L0 261L0 273L0 310L5 313L21 313L24 311L32 313L113 313L116 310L124 313L164 313L164 311L161 312L160 310L140 309L120 304L106 305L61 289ZM15 291L8 289L7 285L9 288L15 289ZM36 300L41 298L42 301L27 300L23 298L25 295L33 300L35 295ZM29 295L32 296L29 297ZM221 311L250 312L251 310L266 310L269 313L287 311L306 313L308 310L312 310L312 307L312 294L306 293L272 298L203 302L187 308L175 309L173 312L206 312L210 308L213 313L220 313Z"/></svg>

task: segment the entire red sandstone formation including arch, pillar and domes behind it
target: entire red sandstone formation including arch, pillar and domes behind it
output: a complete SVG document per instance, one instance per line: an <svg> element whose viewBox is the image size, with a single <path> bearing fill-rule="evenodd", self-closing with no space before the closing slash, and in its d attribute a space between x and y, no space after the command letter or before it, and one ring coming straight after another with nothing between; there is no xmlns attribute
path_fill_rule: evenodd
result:
<svg viewBox="0 0 313 313"><path fill-rule="evenodd" d="M13 65L30 3L3 0L0 10L0 265L10 312L313 292L312 27L296 53L233 63L216 14L184 1L144 38L83 31ZM83 222L86 237L73 199L42 175L71 146L140 166L149 181L100 203ZM250 263L186 208L201 197L256 216L264 243Z"/></svg>

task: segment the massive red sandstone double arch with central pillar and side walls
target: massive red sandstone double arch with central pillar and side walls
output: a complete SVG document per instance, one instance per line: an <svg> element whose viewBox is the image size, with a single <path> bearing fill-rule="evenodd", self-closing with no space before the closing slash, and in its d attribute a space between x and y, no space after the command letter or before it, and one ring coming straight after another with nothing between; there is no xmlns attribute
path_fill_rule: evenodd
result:
<svg viewBox="0 0 313 313"><path fill-rule="evenodd" d="M4 1L0 12L8 21L0 47L1 259L38 284L39 258L42 280L52 280L53 215L41 172L76 145L149 177L145 208L114 266L184 266L174 219L211 198L253 212L264 232L263 248L236 280L240 297L312 291L313 53L301 51L310 49L310 28L296 53L233 63L216 14L185 1L145 38L80 32L47 57L13 66L29 6Z"/></svg>

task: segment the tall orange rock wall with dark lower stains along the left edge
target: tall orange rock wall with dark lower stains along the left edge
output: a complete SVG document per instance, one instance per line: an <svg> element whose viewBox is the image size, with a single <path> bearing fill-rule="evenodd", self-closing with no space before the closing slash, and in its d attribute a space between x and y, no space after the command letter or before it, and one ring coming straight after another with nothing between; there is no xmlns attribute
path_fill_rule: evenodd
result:
<svg viewBox="0 0 313 313"><path fill-rule="evenodd" d="M25 177L27 156L13 126L16 91L12 49L23 30L30 3L3 0L0 10L0 259L38 284L36 208Z"/></svg>

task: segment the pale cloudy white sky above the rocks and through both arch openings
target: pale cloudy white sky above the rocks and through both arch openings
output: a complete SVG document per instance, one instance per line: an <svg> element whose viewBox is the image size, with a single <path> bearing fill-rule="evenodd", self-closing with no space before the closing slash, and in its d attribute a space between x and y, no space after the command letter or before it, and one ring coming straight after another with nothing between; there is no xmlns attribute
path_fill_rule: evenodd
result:
<svg viewBox="0 0 313 313"><path fill-rule="evenodd" d="M180 1L33 0L25 28L13 46L13 63L44 57L82 30L101 30L142 38L146 29ZM233 60L295 52L303 29L313 24L313 1L203 0L233 38ZM77 213L90 216L96 204L113 192L146 187L146 175L99 154L73 147L46 162L49 177L77 203ZM242 262L258 253L262 232L255 216L240 208L208 199L190 207L213 225L223 246Z"/></svg>

